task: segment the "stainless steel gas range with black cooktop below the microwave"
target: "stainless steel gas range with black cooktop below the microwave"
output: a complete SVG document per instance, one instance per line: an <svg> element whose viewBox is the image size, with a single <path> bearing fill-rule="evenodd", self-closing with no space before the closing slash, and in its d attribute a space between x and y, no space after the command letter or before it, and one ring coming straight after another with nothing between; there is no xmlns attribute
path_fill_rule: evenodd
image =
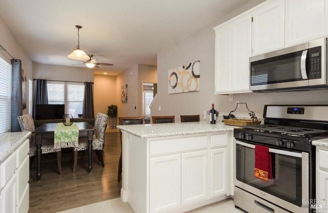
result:
<svg viewBox="0 0 328 213"><path fill-rule="evenodd" d="M328 105L265 105L264 124L234 130L234 203L250 213L313 212L315 147L328 137ZM272 179L254 177L255 146L269 148Z"/></svg>

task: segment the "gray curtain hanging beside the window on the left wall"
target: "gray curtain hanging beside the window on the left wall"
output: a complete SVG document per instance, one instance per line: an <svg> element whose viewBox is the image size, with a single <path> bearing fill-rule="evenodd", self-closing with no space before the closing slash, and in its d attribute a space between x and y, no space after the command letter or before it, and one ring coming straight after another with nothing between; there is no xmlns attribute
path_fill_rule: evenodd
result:
<svg viewBox="0 0 328 213"><path fill-rule="evenodd" d="M11 132L20 132L17 117L23 115L22 61L12 59L11 65Z"/></svg>

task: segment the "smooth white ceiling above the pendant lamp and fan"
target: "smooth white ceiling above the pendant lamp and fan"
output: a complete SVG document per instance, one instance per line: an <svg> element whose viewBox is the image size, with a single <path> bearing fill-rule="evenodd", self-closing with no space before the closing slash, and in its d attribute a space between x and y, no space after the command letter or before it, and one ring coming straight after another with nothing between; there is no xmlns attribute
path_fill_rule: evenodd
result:
<svg viewBox="0 0 328 213"><path fill-rule="evenodd" d="M157 52L166 45L249 1L1 0L0 16L31 60L44 64L76 63L67 55L77 45L74 26L81 25L81 50L113 63L100 69L116 75L134 64L156 65Z"/></svg>

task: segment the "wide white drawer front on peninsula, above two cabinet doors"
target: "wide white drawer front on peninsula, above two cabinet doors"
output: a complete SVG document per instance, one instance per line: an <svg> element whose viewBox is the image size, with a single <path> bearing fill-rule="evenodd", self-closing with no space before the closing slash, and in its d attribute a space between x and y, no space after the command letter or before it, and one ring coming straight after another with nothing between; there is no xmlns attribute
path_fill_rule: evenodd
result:
<svg viewBox="0 0 328 213"><path fill-rule="evenodd" d="M176 153L206 148L206 135L150 141L150 155Z"/></svg>

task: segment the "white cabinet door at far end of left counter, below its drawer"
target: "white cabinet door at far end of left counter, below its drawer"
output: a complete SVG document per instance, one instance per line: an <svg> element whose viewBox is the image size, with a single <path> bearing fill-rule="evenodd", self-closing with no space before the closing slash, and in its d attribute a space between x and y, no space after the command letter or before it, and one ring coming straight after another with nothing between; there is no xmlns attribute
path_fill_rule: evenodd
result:
<svg viewBox="0 0 328 213"><path fill-rule="evenodd" d="M16 174L17 174L17 203L22 199L23 193L25 191L26 185L29 182L29 156L26 156L23 163L19 165Z"/></svg>

